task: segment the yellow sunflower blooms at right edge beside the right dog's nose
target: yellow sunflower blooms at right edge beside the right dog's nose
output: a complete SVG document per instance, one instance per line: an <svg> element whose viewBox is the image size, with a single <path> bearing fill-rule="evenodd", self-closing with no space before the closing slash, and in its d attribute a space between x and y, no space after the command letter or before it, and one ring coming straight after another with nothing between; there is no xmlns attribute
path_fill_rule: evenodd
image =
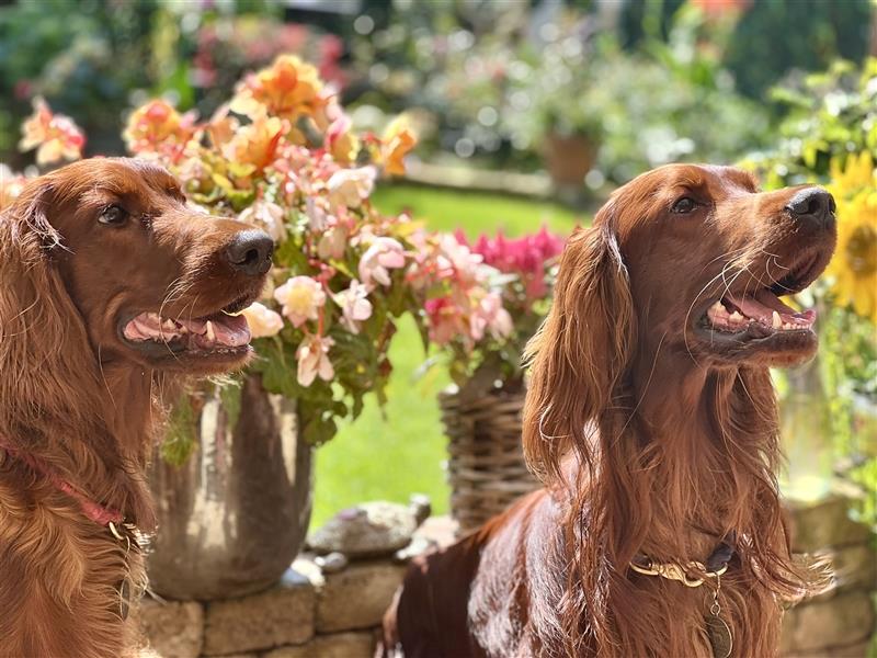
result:
<svg viewBox="0 0 877 658"><path fill-rule="evenodd" d="M877 170L869 152L831 163L838 249L825 273L838 304L877 324Z"/></svg>

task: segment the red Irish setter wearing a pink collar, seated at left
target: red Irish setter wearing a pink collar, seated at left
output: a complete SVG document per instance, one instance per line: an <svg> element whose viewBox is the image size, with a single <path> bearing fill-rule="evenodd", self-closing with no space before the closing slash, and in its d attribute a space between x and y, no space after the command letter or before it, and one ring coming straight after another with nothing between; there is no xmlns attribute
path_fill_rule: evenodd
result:
<svg viewBox="0 0 877 658"><path fill-rule="evenodd" d="M247 361L227 313L272 249L138 160L64 167L0 215L0 656L134 651L160 394Z"/></svg>

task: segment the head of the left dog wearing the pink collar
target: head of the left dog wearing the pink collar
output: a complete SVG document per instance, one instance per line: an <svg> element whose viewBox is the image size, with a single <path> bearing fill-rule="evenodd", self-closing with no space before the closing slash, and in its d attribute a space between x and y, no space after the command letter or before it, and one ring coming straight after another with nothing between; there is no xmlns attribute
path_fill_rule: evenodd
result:
<svg viewBox="0 0 877 658"><path fill-rule="evenodd" d="M250 355L246 319L230 314L262 290L272 240L192 209L164 169L125 158L76 162L30 183L2 222L8 239L36 247L5 283L33 287L39 304L68 296L66 321L82 324L102 363L212 374ZM41 340L45 310L18 313Z"/></svg>

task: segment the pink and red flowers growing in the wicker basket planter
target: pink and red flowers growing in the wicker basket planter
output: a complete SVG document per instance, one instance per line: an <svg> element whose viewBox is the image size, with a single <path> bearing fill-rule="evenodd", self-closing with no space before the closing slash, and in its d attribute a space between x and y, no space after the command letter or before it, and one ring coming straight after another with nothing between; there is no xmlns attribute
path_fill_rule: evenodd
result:
<svg viewBox="0 0 877 658"><path fill-rule="evenodd" d="M440 270L425 305L429 336L460 386L523 379L526 341L547 311L563 239L545 227L511 239L462 232L436 246Z"/></svg>

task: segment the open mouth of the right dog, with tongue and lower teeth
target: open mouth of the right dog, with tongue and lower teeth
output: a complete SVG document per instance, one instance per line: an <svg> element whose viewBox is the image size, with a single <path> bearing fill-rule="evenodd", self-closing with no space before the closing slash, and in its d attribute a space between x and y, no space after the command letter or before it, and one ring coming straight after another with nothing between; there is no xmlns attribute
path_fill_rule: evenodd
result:
<svg viewBox="0 0 877 658"><path fill-rule="evenodd" d="M753 293L726 293L704 314L701 326L713 334L766 338L772 334L812 331L817 313L795 310L779 297L809 286L822 270L817 256L770 287Z"/></svg>

